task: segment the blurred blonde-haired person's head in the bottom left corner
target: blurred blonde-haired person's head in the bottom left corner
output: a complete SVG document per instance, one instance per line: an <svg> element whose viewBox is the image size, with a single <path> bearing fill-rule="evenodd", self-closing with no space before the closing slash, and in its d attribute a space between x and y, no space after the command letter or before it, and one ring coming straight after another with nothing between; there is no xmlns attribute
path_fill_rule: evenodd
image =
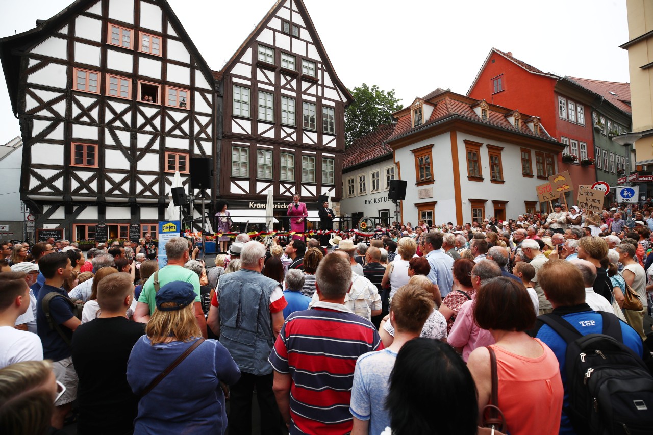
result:
<svg viewBox="0 0 653 435"><path fill-rule="evenodd" d="M52 433L54 402L64 391L56 382L50 361L16 362L0 369L0 433Z"/></svg>

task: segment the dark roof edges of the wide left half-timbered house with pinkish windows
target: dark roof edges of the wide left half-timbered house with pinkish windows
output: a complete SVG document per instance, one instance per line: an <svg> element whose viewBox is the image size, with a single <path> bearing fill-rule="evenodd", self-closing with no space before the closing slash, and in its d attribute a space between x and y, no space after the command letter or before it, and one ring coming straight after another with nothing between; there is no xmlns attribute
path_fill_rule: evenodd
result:
<svg viewBox="0 0 653 435"><path fill-rule="evenodd" d="M180 39L184 40L189 48L189 51L197 61L197 64L204 69L206 74L212 75L211 69L200 54L199 50L193 43L193 40L188 35L186 29L183 27L177 15L168 4L167 0L153 0L161 7L163 12L167 15L168 21L174 26L174 29ZM17 48L24 48L39 42L44 35L55 33L61 26L70 20L75 14L83 12L89 7L97 3L98 0L75 0L67 7L63 8L58 14L48 18L48 20L38 20L37 27L29 29L18 35L10 35L0 39L0 61L3 65L5 72L5 81L9 91L9 99L14 112L16 112L16 99L18 97L18 80L20 77L20 54L14 54L13 51Z"/></svg>

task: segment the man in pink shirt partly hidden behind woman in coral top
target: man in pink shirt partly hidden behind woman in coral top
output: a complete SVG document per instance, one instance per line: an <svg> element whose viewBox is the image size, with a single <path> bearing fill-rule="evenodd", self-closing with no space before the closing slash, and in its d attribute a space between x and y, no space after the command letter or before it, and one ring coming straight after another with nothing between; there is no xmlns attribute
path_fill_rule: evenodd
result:
<svg viewBox="0 0 653 435"><path fill-rule="evenodd" d="M471 269L471 285L477 291L483 291L483 285L501 276L501 268L494 261L481 261ZM494 344L490 331L481 329L474 320L475 299L468 300L458 308L456 321L451 327L447 343L462 349L462 359L467 362L471 351L477 347Z"/></svg>

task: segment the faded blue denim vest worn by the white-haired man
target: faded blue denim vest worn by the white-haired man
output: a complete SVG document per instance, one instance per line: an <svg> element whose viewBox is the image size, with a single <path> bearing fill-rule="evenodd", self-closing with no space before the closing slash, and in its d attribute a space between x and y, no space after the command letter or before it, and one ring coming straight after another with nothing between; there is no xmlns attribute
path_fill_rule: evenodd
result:
<svg viewBox="0 0 653 435"><path fill-rule="evenodd" d="M220 277L220 343L242 372L256 376L272 373L268 362L274 346L270 295L278 285L275 280L247 269Z"/></svg>

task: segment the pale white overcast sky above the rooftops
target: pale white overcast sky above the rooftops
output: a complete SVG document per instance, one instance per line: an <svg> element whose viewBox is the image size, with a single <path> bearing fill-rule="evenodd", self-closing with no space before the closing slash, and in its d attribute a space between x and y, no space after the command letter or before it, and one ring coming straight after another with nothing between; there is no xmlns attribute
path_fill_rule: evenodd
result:
<svg viewBox="0 0 653 435"><path fill-rule="evenodd" d="M222 68L275 0L168 0L208 65ZM71 0L0 0L0 37ZM466 93L492 47L558 75L629 82L625 0L304 0L336 74L395 89L404 106L436 88ZM4 76L2 77L4 78ZM0 143L20 134L0 85Z"/></svg>

